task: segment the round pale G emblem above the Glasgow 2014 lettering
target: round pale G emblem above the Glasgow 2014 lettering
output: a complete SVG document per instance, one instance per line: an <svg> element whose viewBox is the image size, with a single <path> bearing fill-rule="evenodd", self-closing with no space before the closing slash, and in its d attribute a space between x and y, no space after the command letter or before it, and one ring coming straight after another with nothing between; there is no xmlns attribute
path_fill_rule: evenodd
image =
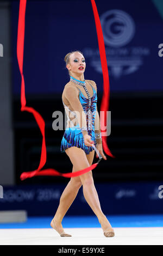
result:
<svg viewBox="0 0 163 256"><path fill-rule="evenodd" d="M106 11L100 20L106 45L120 47L133 39L135 23L124 11L117 9Z"/></svg>

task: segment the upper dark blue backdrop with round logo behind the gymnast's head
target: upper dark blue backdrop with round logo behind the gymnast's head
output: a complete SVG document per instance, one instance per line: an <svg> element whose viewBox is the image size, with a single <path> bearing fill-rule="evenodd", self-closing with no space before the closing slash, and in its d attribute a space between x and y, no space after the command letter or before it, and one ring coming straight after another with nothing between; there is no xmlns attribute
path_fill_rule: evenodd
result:
<svg viewBox="0 0 163 256"><path fill-rule="evenodd" d="M111 92L162 90L161 9L157 0L96 0L102 23ZM14 94L21 76L16 57L19 2L12 2ZM28 1L24 41L26 94L61 94L69 81L64 57L79 49L86 59L85 79L103 90L95 20L91 1Z"/></svg>

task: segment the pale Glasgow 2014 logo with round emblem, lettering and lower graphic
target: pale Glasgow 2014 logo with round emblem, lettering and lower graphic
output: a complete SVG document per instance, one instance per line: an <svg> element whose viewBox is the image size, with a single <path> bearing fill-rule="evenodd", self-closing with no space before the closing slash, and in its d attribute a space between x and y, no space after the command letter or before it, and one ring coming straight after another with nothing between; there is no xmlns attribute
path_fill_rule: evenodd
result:
<svg viewBox="0 0 163 256"><path fill-rule="evenodd" d="M137 71L143 65L143 57L149 48L127 46L134 39L136 27L133 18L122 10L109 10L100 17L103 29L109 75L121 78ZM99 50L86 47L83 54L90 65L102 74Z"/></svg>

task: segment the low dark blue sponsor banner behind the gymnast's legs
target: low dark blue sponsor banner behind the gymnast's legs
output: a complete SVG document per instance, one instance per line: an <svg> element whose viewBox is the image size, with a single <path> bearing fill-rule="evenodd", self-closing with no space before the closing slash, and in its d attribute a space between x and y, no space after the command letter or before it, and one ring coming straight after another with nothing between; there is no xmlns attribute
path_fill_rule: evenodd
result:
<svg viewBox="0 0 163 256"><path fill-rule="evenodd" d="M95 184L104 214L163 214L162 182L128 182ZM52 216L66 184L4 186L1 210L26 210L28 216ZM83 189L67 215L92 215Z"/></svg>

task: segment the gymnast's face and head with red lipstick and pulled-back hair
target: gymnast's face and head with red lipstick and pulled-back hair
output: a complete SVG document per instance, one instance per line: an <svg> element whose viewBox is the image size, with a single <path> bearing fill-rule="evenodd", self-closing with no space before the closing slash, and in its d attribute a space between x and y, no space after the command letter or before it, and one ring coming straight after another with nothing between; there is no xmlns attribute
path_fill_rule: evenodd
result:
<svg viewBox="0 0 163 256"><path fill-rule="evenodd" d="M82 75L85 71L85 58L80 52L74 52L70 55L70 62L67 64L67 69L71 75Z"/></svg>

